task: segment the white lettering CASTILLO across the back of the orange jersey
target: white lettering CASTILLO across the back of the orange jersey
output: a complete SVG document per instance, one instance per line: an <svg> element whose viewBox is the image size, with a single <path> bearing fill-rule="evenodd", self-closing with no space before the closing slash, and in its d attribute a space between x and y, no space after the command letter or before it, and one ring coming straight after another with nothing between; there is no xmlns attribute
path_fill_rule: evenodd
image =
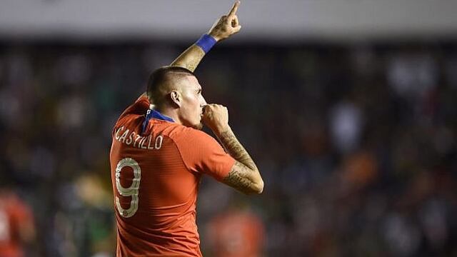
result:
<svg viewBox="0 0 457 257"><path fill-rule="evenodd" d="M116 130L114 138L121 143L125 143L127 146L147 150L159 150L164 141L164 136L162 135L159 135L156 138L152 138L152 135L141 136L135 133L135 131L129 131L129 129L126 129L124 126L121 126Z"/></svg>

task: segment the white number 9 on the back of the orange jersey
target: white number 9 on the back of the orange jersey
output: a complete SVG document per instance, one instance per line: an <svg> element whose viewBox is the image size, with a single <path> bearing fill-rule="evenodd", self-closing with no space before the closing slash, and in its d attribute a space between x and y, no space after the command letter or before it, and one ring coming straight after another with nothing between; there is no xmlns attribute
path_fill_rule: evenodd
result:
<svg viewBox="0 0 457 257"><path fill-rule="evenodd" d="M128 166L134 170L134 179L129 188L121 186L121 170L125 166ZM116 166L116 188L121 196L131 196L130 208L124 209L119 202L119 198L116 196L116 207L119 214L124 218L130 218L134 216L138 210L138 193L140 188L141 180L141 168L139 164L133 158L123 158Z"/></svg>

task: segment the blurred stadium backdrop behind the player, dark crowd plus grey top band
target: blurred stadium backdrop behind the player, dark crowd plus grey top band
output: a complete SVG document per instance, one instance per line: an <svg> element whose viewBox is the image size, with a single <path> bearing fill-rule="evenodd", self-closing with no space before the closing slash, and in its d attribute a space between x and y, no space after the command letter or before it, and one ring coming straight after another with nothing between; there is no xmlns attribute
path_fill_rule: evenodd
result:
<svg viewBox="0 0 457 257"><path fill-rule="evenodd" d="M0 185L33 211L26 256L113 253L114 121L231 4L1 1ZM243 1L241 33L196 74L266 184L243 196L204 178L205 256L236 211L263 224L261 256L456 256L456 9Z"/></svg>

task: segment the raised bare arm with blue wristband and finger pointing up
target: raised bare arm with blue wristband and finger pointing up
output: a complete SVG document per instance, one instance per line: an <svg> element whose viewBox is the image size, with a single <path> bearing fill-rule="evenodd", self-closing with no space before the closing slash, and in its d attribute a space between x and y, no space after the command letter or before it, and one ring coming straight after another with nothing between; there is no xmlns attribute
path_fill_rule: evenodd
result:
<svg viewBox="0 0 457 257"><path fill-rule="evenodd" d="M239 24L238 16L236 16L239 5L240 1L236 1L228 14L221 16L213 24L211 29L209 29L207 34L201 36L199 41L196 41L195 44L186 49L170 65L180 66L194 72L200 64L201 59L203 59L214 44L240 31L241 25Z"/></svg>

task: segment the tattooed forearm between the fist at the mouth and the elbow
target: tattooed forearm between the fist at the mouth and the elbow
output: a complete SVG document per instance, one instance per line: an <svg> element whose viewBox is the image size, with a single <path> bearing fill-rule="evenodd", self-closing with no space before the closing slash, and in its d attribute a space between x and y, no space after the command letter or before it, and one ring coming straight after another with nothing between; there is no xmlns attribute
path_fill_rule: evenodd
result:
<svg viewBox="0 0 457 257"><path fill-rule="evenodd" d="M231 131L230 129L228 131L224 131L218 135L218 138L221 141L222 146L226 148L226 151L234 159L236 159L236 161L243 163L244 165L248 166L248 168L257 168L251 156L249 156L249 153L238 141L235 134L233 134L233 131Z"/></svg>

